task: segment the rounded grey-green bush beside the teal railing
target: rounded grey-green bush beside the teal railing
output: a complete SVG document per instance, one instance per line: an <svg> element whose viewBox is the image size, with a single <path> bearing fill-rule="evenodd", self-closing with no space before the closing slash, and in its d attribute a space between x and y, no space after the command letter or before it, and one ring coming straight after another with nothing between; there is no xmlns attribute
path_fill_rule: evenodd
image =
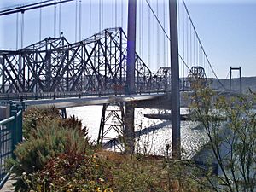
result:
<svg viewBox="0 0 256 192"><path fill-rule="evenodd" d="M85 153L90 151L89 143L78 131L59 126L58 120L51 120L38 125L28 140L15 149L14 172L20 177L43 169L48 160L58 154ZM18 179L15 189L26 189ZM26 190L24 190L26 191Z"/></svg>

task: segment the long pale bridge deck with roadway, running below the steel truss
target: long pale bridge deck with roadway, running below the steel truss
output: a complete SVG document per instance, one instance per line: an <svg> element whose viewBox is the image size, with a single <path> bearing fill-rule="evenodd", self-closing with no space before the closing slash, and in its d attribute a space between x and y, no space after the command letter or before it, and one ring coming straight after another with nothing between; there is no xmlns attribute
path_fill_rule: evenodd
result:
<svg viewBox="0 0 256 192"><path fill-rule="evenodd" d="M218 91L219 93L222 91ZM181 92L181 108L188 108L190 102L185 102L190 91ZM225 95L225 94L224 94ZM188 99L188 98L187 98ZM83 93L83 92L49 92L49 93L20 93L3 94L0 100L13 100L15 103L22 103L27 108L74 108L89 105L103 105L116 102L134 102L135 108L161 108L171 109L171 92L137 92L134 95L121 95L117 93Z"/></svg>

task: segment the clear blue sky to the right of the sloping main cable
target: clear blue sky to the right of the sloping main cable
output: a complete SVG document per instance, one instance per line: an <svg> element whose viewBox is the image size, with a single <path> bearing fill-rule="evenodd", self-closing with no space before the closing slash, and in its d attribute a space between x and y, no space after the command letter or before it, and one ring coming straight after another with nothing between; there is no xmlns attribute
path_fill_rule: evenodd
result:
<svg viewBox="0 0 256 192"><path fill-rule="evenodd" d="M256 1L201 2L188 7L215 71L224 77L241 66L243 76L256 76Z"/></svg>

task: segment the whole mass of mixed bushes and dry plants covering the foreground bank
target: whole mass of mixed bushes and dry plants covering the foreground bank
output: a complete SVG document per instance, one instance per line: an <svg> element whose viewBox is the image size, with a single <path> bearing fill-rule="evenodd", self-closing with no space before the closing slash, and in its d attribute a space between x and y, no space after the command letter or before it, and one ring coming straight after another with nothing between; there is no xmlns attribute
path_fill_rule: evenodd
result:
<svg viewBox="0 0 256 192"><path fill-rule="evenodd" d="M54 108L27 111L24 122L26 140L12 160L15 191L211 191L192 179L197 170L168 158L96 151L81 121Z"/></svg>

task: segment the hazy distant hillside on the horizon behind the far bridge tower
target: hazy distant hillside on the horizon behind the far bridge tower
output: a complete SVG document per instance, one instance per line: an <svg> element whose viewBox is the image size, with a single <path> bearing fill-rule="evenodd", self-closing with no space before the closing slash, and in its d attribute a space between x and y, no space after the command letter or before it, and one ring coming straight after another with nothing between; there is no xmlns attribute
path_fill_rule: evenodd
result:
<svg viewBox="0 0 256 192"><path fill-rule="evenodd" d="M222 90L223 87L218 83L218 79L209 78L210 87L212 89L220 89ZM224 84L226 89L230 89L230 79L219 79L219 81ZM232 79L232 90L239 91L239 79ZM249 89L256 91L256 77L243 77L241 78L241 87L243 92L247 92Z"/></svg>

